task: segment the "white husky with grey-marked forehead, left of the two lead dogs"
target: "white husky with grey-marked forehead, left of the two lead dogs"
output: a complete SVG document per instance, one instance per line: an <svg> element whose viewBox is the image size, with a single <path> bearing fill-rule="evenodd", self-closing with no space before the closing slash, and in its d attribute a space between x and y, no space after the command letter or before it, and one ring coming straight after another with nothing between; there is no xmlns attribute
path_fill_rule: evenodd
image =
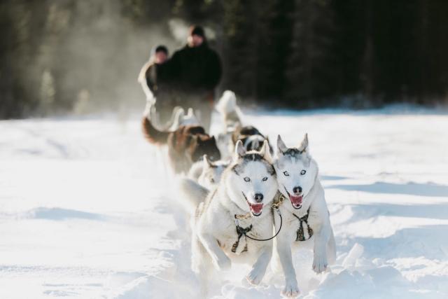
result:
<svg viewBox="0 0 448 299"><path fill-rule="evenodd" d="M238 141L218 187L197 206L192 218L192 269L203 282L212 265L227 270L233 262L253 263L246 277L251 284L260 283L265 275L272 254L271 202L278 188L271 163L267 142L260 151L247 152Z"/></svg>

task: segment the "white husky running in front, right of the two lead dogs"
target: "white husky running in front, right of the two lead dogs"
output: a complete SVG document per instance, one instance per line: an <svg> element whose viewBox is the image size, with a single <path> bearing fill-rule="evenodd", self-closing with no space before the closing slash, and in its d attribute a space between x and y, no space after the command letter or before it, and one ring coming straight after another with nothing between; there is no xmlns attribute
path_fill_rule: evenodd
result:
<svg viewBox="0 0 448 299"><path fill-rule="evenodd" d="M276 251L285 274L283 295L295 297L300 293L295 277L291 246L314 242L313 270L323 272L335 260L335 238L323 187L318 179L318 166L311 158L308 136L297 148L288 148L279 136L274 162L279 183L283 228L276 237ZM312 244L312 243L311 243Z"/></svg>

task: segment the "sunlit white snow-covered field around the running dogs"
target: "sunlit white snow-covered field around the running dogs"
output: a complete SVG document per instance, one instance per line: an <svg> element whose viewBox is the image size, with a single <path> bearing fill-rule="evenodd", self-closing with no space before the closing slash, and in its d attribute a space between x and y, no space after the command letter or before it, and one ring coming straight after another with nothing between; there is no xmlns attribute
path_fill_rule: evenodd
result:
<svg viewBox="0 0 448 299"><path fill-rule="evenodd" d="M309 134L337 263L295 255L302 298L448 298L448 115L250 112L286 144ZM139 116L0 121L0 298L198 298L188 215ZM281 275L226 273L212 298L280 298Z"/></svg>

